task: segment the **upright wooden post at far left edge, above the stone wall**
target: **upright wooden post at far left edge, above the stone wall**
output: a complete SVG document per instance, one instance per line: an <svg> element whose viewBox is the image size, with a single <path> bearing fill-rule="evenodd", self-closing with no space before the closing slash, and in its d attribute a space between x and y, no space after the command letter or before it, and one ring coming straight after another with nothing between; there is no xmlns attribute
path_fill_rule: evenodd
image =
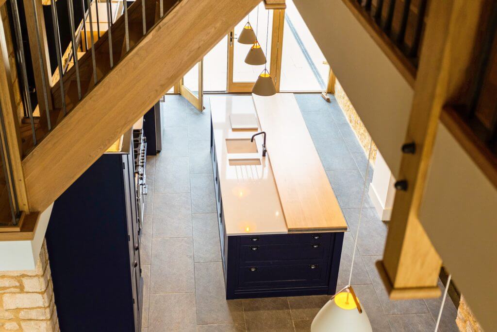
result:
<svg viewBox="0 0 497 332"><path fill-rule="evenodd" d="M1 115L5 125L5 133L1 132L1 139L2 142L7 143L8 154L6 154L6 157L10 160L10 165L3 166L12 173L16 189L15 193L12 192L12 194L17 197L19 210L29 212L26 187L24 184L24 174L21 164L22 144L19 130L19 119L17 116L17 105L13 91L12 73L15 71L15 68L10 67L4 24L8 25L8 21L4 21L4 17L0 15L0 102ZM9 181L9 179L5 179L5 181Z"/></svg>

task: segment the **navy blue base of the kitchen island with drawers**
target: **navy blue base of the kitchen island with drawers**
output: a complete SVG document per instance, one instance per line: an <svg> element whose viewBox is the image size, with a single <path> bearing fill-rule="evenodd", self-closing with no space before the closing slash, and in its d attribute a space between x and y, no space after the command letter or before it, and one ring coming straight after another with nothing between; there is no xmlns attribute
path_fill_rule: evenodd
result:
<svg viewBox="0 0 497 332"><path fill-rule="evenodd" d="M228 236L212 123L211 158L226 298L334 294L343 232Z"/></svg>

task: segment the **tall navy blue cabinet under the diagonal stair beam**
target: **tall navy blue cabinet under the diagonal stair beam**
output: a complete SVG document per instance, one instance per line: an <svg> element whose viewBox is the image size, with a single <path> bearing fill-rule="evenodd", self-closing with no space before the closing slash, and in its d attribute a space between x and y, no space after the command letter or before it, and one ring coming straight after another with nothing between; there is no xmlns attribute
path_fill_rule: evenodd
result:
<svg viewBox="0 0 497 332"><path fill-rule="evenodd" d="M141 331L136 202L130 131L54 203L46 240L62 331Z"/></svg>

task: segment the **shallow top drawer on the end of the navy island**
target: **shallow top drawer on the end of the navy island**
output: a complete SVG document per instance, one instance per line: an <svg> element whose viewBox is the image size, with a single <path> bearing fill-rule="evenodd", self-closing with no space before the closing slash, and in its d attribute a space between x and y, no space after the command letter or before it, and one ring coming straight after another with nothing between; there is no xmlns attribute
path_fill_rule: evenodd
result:
<svg viewBox="0 0 497 332"><path fill-rule="evenodd" d="M330 242L331 236L333 233L244 235L240 236L240 244L323 243Z"/></svg>

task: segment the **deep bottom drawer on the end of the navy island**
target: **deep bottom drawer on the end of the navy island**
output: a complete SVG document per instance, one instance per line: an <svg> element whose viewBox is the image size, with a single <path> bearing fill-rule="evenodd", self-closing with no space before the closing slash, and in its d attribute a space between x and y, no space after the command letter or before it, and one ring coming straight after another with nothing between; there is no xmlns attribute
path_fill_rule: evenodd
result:
<svg viewBox="0 0 497 332"><path fill-rule="evenodd" d="M238 287L326 285L327 264L245 266L239 268Z"/></svg>

